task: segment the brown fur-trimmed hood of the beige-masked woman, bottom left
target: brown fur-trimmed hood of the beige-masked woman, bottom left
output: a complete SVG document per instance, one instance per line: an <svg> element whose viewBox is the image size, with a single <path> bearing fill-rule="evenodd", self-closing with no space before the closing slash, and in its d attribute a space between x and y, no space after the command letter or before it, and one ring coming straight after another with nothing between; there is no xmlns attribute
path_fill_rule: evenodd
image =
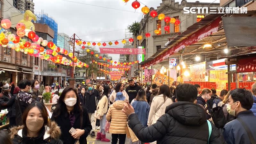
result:
<svg viewBox="0 0 256 144"><path fill-rule="evenodd" d="M11 128L11 139L15 137L15 135L18 135L22 138L22 129L24 128L24 125L22 126L15 126ZM51 137L52 139L58 139L60 137L61 131L60 127L53 121L51 122L51 126L45 126L45 132L44 132L44 140Z"/></svg>

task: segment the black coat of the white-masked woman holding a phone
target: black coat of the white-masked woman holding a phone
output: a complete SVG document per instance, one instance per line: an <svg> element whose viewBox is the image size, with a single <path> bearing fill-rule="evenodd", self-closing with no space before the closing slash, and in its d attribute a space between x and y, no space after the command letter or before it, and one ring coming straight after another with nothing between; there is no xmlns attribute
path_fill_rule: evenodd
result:
<svg viewBox="0 0 256 144"><path fill-rule="evenodd" d="M92 125L91 121L89 119L89 115L87 113L87 109L83 108L83 125L82 125L82 130L84 130L84 134L79 138L79 142L81 144L86 144L86 137L88 136L88 133L92 130ZM73 125L73 128L75 129L81 129L81 121L80 121L80 112L75 111L75 122ZM63 141L63 144L73 144L75 143L75 139L71 136L69 133L69 130L71 129L71 123L69 121L69 115L68 112L61 112L60 116L54 117L56 115L56 109L52 113L51 120L55 121L59 126L61 130L61 136L60 140Z"/></svg>

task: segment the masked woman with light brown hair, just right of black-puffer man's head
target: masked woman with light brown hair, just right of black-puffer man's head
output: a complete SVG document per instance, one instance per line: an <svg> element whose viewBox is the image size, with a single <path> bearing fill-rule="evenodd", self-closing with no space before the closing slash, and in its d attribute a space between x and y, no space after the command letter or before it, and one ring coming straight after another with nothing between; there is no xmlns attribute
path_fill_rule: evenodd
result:
<svg viewBox="0 0 256 144"><path fill-rule="evenodd" d="M204 108L205 113L206 113L206 119L210 119L211 115L209 114L209 111L207 109L207 104L206 101L211 99L212 91L210 89L204 88L202 90L202 93L200 96L196 98L196 103L202 106Z"/></svg>

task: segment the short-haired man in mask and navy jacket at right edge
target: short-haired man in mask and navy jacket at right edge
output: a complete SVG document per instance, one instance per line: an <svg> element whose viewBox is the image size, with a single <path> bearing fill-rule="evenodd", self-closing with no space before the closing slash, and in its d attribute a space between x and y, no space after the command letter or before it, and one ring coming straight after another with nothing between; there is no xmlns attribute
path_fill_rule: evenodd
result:
<svg viewBox="0 0 256 144"><path fill-rule="evenodd" d="M252 93L245 89L235 89L230 92L227 104L229 115L236 119L226 124L223 128L223 137L228 144L250 144L256 140L256 116L253 115Z"/></svg>

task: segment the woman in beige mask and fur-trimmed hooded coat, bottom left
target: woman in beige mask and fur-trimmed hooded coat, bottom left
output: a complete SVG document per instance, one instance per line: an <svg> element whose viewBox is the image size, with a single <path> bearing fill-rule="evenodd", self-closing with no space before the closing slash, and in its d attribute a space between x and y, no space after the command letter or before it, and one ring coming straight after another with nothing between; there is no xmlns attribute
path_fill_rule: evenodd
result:
<svg viewBox="0 0 256 144"><path fill-rule="evenodd" d="M24 111L22 126L11 129L13 144L62 144L60 127L48 121L47 110L41 102L31 103Z"/></svg>

